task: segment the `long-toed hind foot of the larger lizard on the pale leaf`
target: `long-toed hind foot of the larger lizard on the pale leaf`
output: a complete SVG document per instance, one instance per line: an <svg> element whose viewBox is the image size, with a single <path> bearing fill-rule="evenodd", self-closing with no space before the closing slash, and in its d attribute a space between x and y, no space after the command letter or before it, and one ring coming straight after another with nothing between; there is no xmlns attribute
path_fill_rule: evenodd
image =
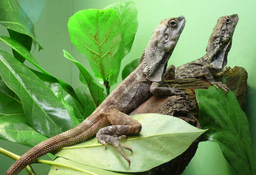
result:
<svg viewBox="0 0 256 175"><path fill-rule="evenodd" d="M130 147L123 145L119 142L119 140L121 140L121 139L127 139L127 137L125 135L122 135L119 137L109 136L109 135L100 135L97 137L97 139L99 142L101 142L105 146L105 149L107 149L107 143L111 143L113 146L115 146L117 148L118 152L121 154L121 156L124 157L125 160L128 162L129 167L130 167L131 160L123 153L123 151L121 150L121 147L131 151L132 153L133 153L133 150Z"/></svg>

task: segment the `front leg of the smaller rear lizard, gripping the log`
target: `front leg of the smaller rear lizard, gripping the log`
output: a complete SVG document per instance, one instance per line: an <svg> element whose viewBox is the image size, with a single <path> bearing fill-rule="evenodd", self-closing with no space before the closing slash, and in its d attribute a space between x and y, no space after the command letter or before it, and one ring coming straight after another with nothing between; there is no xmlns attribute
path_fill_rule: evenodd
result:
<svg viewBox="0 0 256 175"><path fill-rule="evenodd" d="M210 68L211 68L211 65L205 65L202 67L205 78L208 80L208 82L211 85L215 86L216 88L222 88L226 93L228 93L229 88L225 84L223 84L222 82L216 82L214 80L214 77L210 71Z"/></svg>

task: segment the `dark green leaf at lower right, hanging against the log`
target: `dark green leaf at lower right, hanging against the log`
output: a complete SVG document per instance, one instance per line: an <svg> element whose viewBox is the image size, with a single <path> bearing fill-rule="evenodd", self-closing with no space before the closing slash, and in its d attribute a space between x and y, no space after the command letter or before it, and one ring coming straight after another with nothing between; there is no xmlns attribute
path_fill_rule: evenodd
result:
<svg viewBox="0 0 256 175"><path fill-rule="evenodd" d="M217 142L237 175L256 175L249 124L245 113L230 90L226 94L214 86L196 90L199 122L209 128L208 140Z"/></svg>

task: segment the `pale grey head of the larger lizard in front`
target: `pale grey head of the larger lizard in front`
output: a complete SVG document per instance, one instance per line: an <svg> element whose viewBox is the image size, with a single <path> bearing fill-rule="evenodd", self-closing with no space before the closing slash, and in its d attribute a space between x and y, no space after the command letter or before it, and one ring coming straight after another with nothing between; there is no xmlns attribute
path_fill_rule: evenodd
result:
<svg viewBox="0 0 256 175"><path fill-rule="evenodd" d="M163 19L154 30L140 60L145 66L143 72L150 81L161 81L185 22L183 16Z"/></svg>

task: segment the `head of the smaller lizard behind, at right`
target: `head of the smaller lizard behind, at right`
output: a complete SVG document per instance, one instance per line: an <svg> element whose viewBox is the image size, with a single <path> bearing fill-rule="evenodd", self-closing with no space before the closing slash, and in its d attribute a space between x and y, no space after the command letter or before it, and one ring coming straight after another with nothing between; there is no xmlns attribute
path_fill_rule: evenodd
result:
<svg viewBox="0 0 256 175"><path fill-rule="evenodd" d="M238 15L220 17L214 27L213 33L209 38L206 48L207 54L211 57L208 61L217 68L226 65L226 57L232 45L232 37L238 22Z"/></svg>

